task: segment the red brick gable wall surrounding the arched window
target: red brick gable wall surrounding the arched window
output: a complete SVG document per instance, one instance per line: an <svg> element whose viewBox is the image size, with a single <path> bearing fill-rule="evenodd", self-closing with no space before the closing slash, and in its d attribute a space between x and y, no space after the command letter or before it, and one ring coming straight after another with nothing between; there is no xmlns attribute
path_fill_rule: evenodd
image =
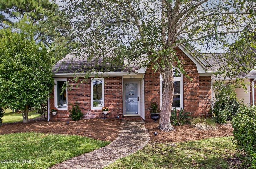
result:
<svg viewBox="0 0 256 169"><path fill-rule="evenodd" d="M187 55L176 49L183 67L192 78L183 75L183 105L186 111L192 112L193 116L205 115L211 108L211 76L199 76L196 64ZM160 73L154 73L149 67L145 73L145 120L150 119L148 107L151 101L160 103Z"/></svg>

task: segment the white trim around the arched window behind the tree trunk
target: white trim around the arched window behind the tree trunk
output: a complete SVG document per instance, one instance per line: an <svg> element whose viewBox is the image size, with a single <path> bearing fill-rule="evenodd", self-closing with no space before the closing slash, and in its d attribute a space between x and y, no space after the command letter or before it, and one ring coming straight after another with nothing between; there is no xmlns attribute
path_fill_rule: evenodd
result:
<svg viewBox="0 0 256 169"><path fill-rule="evenodd" d="M181 77L173 77L173 81L180 81L180 107L176 107L177 110L183 109L184 105L183 105L183 74L181 73L180 69L178 69L177 67L174 67L176 70L178 70L180 72ZM162 95L163 95L163 91L162 91L162 82L163 82L163 78L162 75L160 74L160 110L162 108ZM174 109L174 107L172 107L172 110Z"/></svg>

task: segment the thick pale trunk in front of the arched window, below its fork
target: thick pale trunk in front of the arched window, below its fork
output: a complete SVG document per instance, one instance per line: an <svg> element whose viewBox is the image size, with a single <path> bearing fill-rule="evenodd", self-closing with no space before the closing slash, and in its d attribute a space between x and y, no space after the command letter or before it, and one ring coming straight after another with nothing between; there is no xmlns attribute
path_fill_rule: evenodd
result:
<svg viewBox="0 0 256 169"><path fill-rule="evenodd" d="M163 97L162 97L162 108L160 114L160 121L158 128L170 132L174 130L171 125L171 111L173 101L173 70L172 67L167 66L163 69Z"/></svg>

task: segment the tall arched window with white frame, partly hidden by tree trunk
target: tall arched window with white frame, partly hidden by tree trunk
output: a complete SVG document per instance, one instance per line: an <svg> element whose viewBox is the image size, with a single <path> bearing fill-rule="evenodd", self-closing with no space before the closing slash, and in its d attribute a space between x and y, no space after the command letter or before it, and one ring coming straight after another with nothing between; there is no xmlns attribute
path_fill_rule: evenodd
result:
<svg viewBox="0 0 256 169"><path fill-rule="evenodd" d="M174 81L174 93L172 107L176 109L183 108L183 74L180 69L173 67L173 81ZM162 107L162 96L163 96L163 78L160 74L160 109Z"/></svg>

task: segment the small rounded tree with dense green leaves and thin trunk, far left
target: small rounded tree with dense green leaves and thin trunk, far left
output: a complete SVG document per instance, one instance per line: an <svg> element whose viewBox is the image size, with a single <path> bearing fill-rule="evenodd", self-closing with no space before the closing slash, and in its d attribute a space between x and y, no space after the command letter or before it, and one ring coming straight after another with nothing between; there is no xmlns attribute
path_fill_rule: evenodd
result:
<svg viewBox="0 0 256 169"><path fill-rule="evenodd" d="M29 106L44 102L54 86L50 53L33 37L33 33L0 30L0 102L21 109L24 123Z"/></svg>

